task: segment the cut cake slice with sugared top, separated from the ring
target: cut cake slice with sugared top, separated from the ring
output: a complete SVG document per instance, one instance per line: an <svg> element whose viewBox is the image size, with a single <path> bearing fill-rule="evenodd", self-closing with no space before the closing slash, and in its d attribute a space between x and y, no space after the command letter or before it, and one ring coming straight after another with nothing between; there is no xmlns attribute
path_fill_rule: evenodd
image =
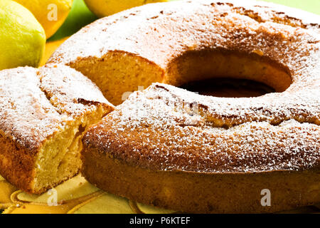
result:
<svg viewBox="0 0 320 228"><path fill-rule="evenodd" d="M85 130L113 109L68 66L0 71L0 175L37 194L68 180L79 172Z"/></svg>

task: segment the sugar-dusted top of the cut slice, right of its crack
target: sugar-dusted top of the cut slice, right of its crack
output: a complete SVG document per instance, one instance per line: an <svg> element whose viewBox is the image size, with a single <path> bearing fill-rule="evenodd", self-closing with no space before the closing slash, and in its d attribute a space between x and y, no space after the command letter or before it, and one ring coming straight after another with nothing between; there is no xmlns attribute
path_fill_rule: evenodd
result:
<svg viewBox="0 0 320 228"><path fill-rule="evenodd" d="M60 112L76 118L94 111L95 104L113 107L92 81L68 66L48 64L39 71L41 90Z"/></svg>

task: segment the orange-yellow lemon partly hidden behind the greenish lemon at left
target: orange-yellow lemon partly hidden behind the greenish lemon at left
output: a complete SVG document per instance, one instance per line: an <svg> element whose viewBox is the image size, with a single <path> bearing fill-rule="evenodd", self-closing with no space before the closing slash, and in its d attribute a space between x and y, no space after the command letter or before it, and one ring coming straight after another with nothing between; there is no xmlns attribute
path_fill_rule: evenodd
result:
<svg viewBox="0 0 320 228"><path fill-rule="evenodd" d="M67 18L73 0L14 0L26 7L36 16L36 19L50 38L60 28Z"/></svg>

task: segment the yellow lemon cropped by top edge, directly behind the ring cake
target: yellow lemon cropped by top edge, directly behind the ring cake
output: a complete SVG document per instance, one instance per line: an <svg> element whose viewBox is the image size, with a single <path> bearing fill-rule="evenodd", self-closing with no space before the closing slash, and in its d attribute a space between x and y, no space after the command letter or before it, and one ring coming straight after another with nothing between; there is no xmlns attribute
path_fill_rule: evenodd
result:
<svg viewBox="0 0 320 228"><path fill-rule="evenodd" d="M169 0L85 0L87 7L97 16L109 16L116 14L124 9L130 9L135 6L142 6L143 4L154 3L158 1Z"/></svg>

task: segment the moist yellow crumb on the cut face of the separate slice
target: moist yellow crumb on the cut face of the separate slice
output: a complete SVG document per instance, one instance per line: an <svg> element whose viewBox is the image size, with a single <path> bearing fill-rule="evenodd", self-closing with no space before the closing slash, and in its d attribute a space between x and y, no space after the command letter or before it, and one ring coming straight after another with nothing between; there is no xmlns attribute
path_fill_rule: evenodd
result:
<svg viewBox="0 0 320 228"><path fill-rule="evenodd" d="M55 133L38 153L34 189L43 192L48 187L58 185L79 172L81 167L81 139L87 128L101 120L104 108L98 106L95 111L88 112L74 120L70 125Z"/></svg>

